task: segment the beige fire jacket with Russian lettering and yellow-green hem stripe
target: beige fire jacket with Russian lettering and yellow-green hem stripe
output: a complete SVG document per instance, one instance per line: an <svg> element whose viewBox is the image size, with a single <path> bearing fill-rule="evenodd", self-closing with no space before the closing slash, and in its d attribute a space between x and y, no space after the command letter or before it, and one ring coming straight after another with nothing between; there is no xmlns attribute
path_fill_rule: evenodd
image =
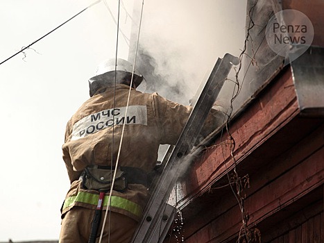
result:
<svg viewBox="0 0 324 243"><path fill-rule="evenodd" d="M127 85L117 85L115 91L108 87L85 101L68 121L62 151L71 188L62 216L74 206L96 208L99 192L85 190L78 178L87 165L107 166L116 162L123 124L120 166L150 172L156 165L160 144L176 144L191 107L168 101L157 93L132 89L125 115L128 92ZM211 113L205 122L205 134L220 125L221 112ZM144 185L129 184L125 192L112 192L110 209L138 221L147 200L148 190ZM107 203L108 196L104 209Z"/></svg>

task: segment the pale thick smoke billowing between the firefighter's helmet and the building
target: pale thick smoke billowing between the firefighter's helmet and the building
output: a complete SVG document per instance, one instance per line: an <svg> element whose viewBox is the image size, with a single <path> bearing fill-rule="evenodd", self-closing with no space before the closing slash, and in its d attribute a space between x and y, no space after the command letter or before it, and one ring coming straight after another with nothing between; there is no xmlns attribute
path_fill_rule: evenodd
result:
<svg viewBox="0 0 324 243"><path fill-rule="evenodd" d="M141 8L140 3L135 3L130 61L134 60ZM146 3L136 60L137 69L146 78L146 92L158 92L172 101L189 104L217 58L223 58L225 53L239 55L244 40L245 8L244 1ZM232 89L232 85L229 87Z"/></svg>

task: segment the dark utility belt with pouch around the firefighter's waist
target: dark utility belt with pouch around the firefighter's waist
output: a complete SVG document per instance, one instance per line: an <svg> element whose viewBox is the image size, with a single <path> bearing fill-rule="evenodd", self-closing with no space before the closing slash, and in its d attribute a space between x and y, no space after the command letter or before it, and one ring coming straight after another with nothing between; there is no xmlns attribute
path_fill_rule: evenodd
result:
<svg viewBox="0 0 324 243"><path fill-rule="evenodd" d="M116 176L113 190L123 192L128 184L142 184L148 187L147 174L142 169L135 167L89 165L85 167L79 180L82 181L85 189L109 192L115 170Z"/></svg>

